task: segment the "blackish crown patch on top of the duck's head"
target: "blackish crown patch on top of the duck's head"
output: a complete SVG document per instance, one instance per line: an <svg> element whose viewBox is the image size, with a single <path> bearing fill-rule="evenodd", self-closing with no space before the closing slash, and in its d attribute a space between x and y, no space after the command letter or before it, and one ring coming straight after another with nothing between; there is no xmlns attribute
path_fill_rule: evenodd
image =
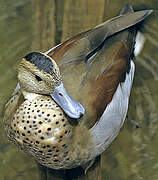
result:
<svg viewBox="0 0 158 180"><path fill-rule="evenodd" d="M31 52L24 57L27 61L34 64L39 70L43 70L49 74L53 74L53 63L45 55L39 52Z"/></svg>

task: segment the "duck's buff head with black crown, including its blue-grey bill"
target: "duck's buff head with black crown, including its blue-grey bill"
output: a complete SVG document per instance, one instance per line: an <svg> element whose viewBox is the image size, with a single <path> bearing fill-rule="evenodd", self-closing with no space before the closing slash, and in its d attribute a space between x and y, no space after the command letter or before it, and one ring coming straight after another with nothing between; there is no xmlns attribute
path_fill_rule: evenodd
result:
<svg viewBox="0 0 158 180"><path fill-rule="evenodd" d="M59 67L44 53L27 54L18 68L18 79L25 98L50 95L70 118L80 118L85 110L64 88Z"/></svg>

